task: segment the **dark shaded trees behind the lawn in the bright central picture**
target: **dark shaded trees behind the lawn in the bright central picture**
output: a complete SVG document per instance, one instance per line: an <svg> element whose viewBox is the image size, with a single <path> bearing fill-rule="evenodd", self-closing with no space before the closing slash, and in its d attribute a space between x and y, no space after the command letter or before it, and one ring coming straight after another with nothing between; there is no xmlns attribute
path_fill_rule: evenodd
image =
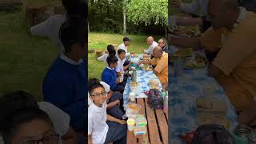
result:
<svg viewBox="0 0 256 144"><path fill-rule="evenodd" d="M129 0L90 1L88 8L90 31L122 34L123 9L127 10L128 2ZM167 14L167 5L165 10ZM134 25L134 22L126 21L126 29L129 34L163 34L165 30L162 23L156 25L154 20L147 24L147 26L145 22L140 22L137 25Z"/></svg>

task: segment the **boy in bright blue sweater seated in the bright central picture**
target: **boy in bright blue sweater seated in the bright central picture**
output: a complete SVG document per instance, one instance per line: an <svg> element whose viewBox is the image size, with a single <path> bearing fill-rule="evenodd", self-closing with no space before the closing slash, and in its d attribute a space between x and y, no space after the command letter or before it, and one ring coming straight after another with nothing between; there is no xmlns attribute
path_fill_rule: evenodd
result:
<svg viewBox="0 0 256 144"><path fill-rule="evenodd" d="M110 90L118 91L123 93L125 87L123 86L124 82L120 82L118 78L115 67L118 65L118 58L115 55L110 55L106 58L108 66L102 72L102 81L110 85Z"/></svg>

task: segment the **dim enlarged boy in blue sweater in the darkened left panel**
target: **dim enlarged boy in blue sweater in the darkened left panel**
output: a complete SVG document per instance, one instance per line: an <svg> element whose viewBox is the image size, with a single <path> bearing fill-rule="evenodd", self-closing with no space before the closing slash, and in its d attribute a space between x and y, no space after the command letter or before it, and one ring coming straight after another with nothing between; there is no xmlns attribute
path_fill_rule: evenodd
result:
<svg viewBox="0 0 256 144"><path fill-rule="evenodd" d="M60 30L65 53L50 66L42 83L46 102L70 115L70 125L78 134L85 134L87 123L87 30L86 20L66 21Z"/></svg>

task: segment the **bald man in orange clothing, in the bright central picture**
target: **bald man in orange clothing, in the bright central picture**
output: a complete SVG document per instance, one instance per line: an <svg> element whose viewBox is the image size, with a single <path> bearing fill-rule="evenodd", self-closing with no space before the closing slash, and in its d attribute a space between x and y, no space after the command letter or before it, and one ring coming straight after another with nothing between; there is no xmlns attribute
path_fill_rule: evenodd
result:
<svg viewBox="0 0 256 144"><path fill-rule="evenodd" d="M162 83L162 86L167 89L168 86L168 53L162 51L160 46L155 46L153 50L154 58L150 61L142 61L142 64L150 64L154 67L156 74Z"/></svg>

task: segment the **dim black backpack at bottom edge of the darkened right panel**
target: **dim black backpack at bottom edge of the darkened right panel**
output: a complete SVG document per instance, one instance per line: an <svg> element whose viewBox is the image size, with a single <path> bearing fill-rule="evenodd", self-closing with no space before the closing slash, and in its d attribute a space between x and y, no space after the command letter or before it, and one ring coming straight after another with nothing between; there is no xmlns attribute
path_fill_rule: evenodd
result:
<svg viewBox="0 0 256 144"><path fill-rule="evenodd" d="M234 144L234 139L224 126L207 124L198 127L191 144Z"/></svg>

